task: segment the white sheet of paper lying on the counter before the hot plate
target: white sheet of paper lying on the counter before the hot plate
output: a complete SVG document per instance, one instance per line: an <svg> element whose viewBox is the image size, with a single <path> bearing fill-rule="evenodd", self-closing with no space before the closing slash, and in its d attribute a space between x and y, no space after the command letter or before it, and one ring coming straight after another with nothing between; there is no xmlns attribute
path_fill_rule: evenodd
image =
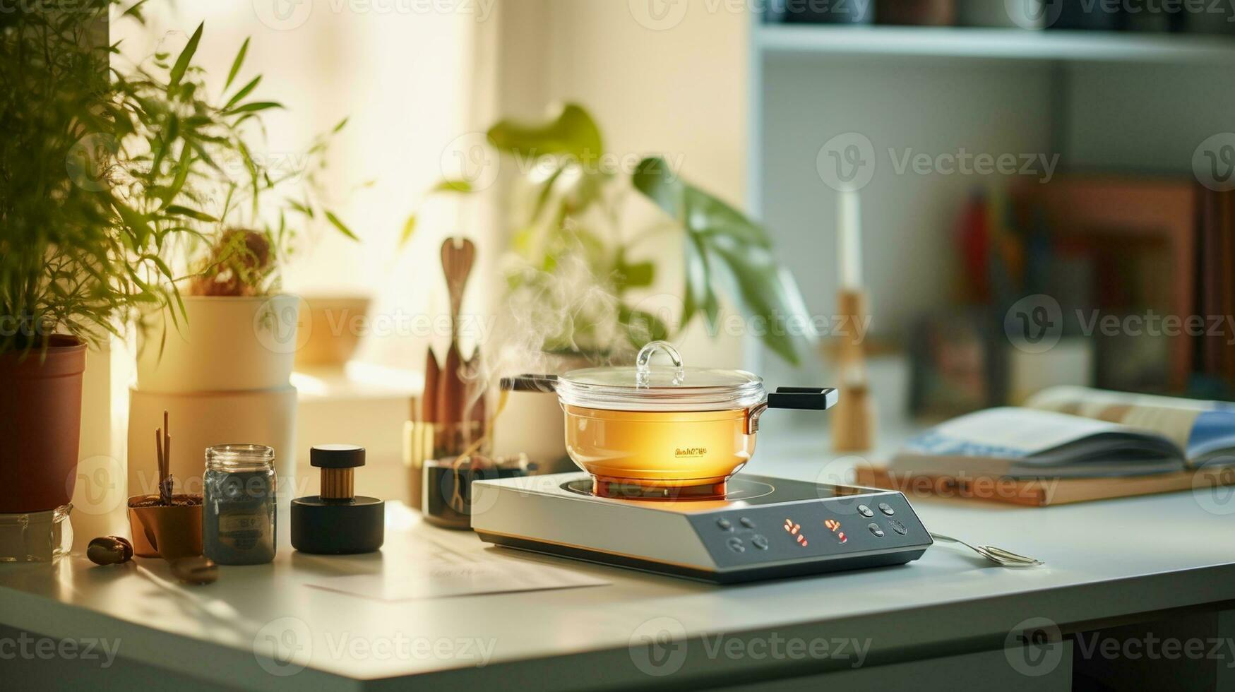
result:
<svg viewBox="0 0 1235 692"><path fill-rule="evenodd" d="M457 552L432 541L422 542L401 557L383 556L380 572L321 577L308 586L379 601L415 601L609 583L572 570L492 555L493 551Z"/></svg>

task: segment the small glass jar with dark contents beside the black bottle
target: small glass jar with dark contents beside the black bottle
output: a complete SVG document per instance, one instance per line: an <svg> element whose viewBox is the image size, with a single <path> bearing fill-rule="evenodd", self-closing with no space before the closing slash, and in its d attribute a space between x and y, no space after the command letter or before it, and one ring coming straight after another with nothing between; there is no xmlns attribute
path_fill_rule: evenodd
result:
<svg viewBox="0 0 1235 692"><path fill-rule="evenodd" d="M274 560L274 450L219 445L206 450L201 546L220 565Z"/></svg>

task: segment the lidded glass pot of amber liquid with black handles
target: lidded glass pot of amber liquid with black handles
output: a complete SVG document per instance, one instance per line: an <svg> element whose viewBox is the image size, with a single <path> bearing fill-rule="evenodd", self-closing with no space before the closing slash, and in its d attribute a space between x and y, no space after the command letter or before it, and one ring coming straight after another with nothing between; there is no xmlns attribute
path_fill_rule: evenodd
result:
<svg viewBox="0 0 1235 692"><path fill-rule="evenodd" d="M652 365L663 352L671 365ZM671 344L645 346L635 367L541 378L557 389L566 449L593 492L620 498L718 498L755 454L768 408L824 410L835 389L781 388L745 371L688 368Z"/></svg>

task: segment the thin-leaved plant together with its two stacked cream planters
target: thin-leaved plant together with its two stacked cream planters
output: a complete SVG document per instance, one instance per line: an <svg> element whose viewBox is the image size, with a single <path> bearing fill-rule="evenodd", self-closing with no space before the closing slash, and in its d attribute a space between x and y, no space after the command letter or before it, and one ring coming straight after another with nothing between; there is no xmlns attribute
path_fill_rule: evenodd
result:
<svg viewBox="0 0 1235 692"><path fill-rule="evenodd" d="M158 260L175 272L185 318L165 308L143 315L128 449L146 449L148 430L138 421L169 410L183 421L179 449L190 451L172 468L188 491L200 489L203 476L193 452L236 441L273 447L279 476L293 479L289 377L306 335L298 330L300 299L279 290L280 267L317 221L356 238L326 208L320 182L330 137L346 119L303 157L261 156L263 115L283 106L257 96L262 75L241 78L247 40L211 96L194 64L203 30L174 59L157 53L115 78L141 105L128 114L121 147L127 193L138 210L168 217L158 230L178 231ZM151 466L143 461L130 458L130 492L151 493L159 481L142 476Z"/></svg>

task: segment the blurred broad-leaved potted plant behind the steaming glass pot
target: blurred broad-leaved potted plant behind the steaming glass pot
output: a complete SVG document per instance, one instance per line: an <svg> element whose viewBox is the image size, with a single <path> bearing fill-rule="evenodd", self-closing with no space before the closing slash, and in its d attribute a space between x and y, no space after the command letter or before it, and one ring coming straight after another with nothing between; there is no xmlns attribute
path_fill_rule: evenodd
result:
<svg viewBox="0 0 1235 692"><path fill-rule="evenodd" d="M532 363L498 355L496 368L564 371L620 362L648 341L679 336L699 319L715 335L719 295L726 289L748 318L768 325L758 336L773 353L797 365L813 348L805 300L777 262L767 231L684 180L664 158L646 157L622 171L620 159L605 151L595 120L577 104L566 104L545 122L501 120L487 138L521 172L506 210L514 252L500 310L509 320L504 331L516 360L540 351ZM474 194L475 179L443 180L431 193ZM640 213L646 203L659 213ZM412 214L405 240L415 224ZM666 242L682 247L684 285L672 297L677 300L648 300ZM522 451L536 440L559 445L564 436L556 397L520 397L529 400L509 407L498 421L501 450ZM522 446L505 447L503 439ZM564 456L564 447L555 447L555 455ZM534 461L555 468L547 456Z"/></svg>

